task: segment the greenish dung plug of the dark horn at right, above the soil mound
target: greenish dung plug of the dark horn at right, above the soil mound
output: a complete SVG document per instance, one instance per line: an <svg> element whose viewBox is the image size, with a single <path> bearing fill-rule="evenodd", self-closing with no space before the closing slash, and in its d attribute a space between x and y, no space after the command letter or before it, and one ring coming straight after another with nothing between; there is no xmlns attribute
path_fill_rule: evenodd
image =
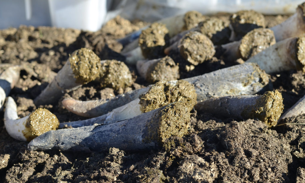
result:
<svg viewBox="0 0 305 183"><path fill-rule="evenodd" d="M242 116L263 121L268 127L275 126L284 109L282 94L277 90L266 91L251 108L246 107Z"/></svg>

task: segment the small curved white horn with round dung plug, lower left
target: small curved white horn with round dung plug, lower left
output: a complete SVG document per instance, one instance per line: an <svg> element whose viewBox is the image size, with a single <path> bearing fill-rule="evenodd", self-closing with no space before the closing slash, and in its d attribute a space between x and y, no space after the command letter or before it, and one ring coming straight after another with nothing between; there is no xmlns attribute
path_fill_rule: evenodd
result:
<svg viewBox="0 0 305 183"><path fill-rule="evenodd" d="M47 109L38 108L30 115L20 118L17 106L12 97L7 97L4 126L9 135L16 140L30 142L33 138L50 130L56 130L59 125L57 117Z"/></svg>

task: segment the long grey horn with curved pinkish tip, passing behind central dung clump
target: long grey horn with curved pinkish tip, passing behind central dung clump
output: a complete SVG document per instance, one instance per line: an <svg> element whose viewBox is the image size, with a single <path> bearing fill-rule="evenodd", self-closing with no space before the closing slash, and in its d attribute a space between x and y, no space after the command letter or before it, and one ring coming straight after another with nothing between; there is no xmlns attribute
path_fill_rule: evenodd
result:
<svg viewBox="0 0 305 183"><path fill-rule="evenodd" d="M245 63L216 70L211 73L183 79L195 87L197 101L230 95L253 95L272 88L269 75L255 63ZM177 81L169 81L169 83ZM123 106L149 90L151 86L117 95L112 99L80 101L64 99L63 106L84 117L98 117Z"/></svg>

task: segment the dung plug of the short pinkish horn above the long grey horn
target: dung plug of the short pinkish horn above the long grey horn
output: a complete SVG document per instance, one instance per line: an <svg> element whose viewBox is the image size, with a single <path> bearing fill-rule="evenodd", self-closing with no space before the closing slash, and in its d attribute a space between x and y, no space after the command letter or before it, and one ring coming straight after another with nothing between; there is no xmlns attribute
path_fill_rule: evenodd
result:
<svg viewBox="0 0 305 183"><path fill-rule="evenodd" d="M149 83L156 83L163 80L172 81L177 80L179 77L179 66L169 56L152 64L146 73L146 81Z"/></svg>

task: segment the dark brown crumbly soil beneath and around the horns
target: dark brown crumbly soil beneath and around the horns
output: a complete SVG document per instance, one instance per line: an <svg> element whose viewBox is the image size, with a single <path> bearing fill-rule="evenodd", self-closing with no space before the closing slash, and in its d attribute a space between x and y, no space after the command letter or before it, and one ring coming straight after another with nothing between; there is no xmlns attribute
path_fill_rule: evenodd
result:
<svg viewBox="0 0 305 183"><path fill-rule="evenodd" d="M265 18L266 27L270 27L287 16ZM119 54L123 47L115 39L144 25L116 17L97 32L24 26L0 30L1 63L24 66L10 93L19 117L45 107L60 122L81 120L85 118L63 108L63 98L107 99L147 85L138 77L135 66L128 66L135 80L131 87L114 91L89 82L67 91L53 105L33 103L76 49L90 48L101 60L124 61ZM217 59L217 54L188 72L181 69L181 78L232 65ZM277 73L271 81L283 96L283 112L305 95L305 74L301 71ZM0 112L0 182L304 182L305 126L300 124L305 115L284 121L294 124L270 129L261 121L235 121L194 110L191 113L188 134L168 138L162 149L124 152L111 148L109 152L81 153L26 150L27 142L8 135Z"/></svg>

